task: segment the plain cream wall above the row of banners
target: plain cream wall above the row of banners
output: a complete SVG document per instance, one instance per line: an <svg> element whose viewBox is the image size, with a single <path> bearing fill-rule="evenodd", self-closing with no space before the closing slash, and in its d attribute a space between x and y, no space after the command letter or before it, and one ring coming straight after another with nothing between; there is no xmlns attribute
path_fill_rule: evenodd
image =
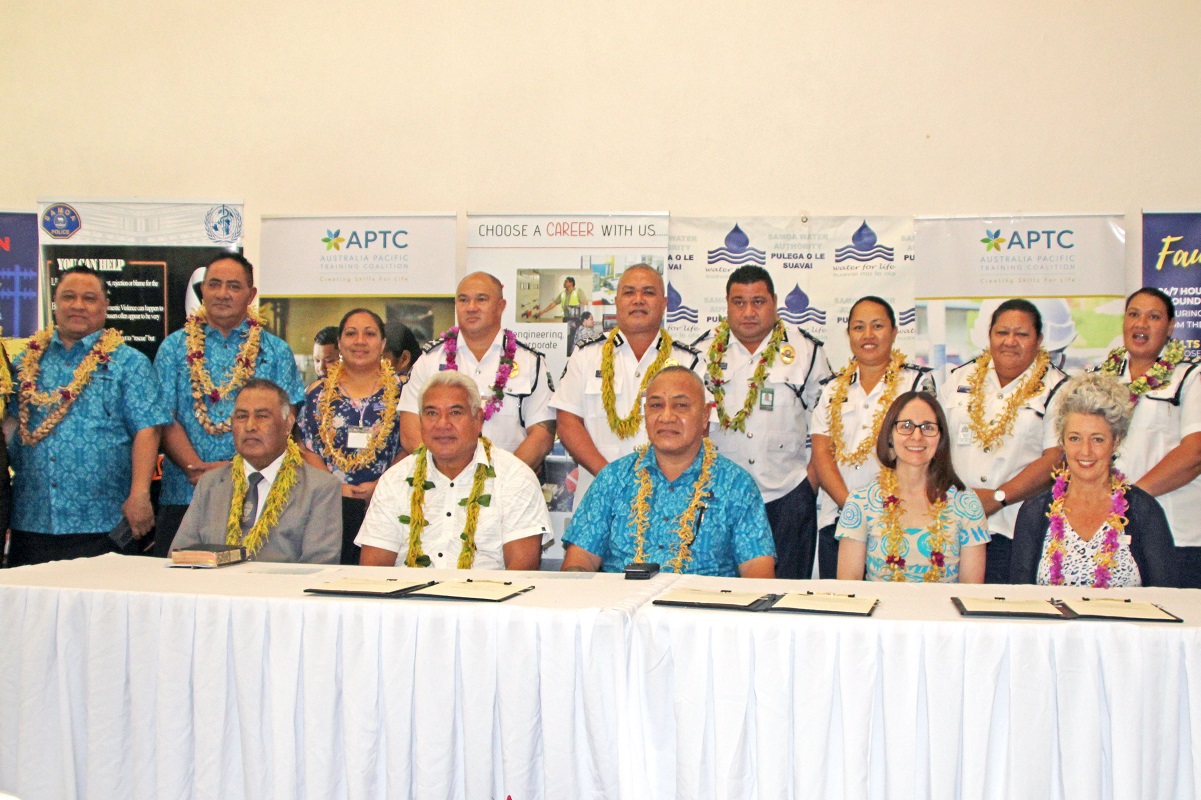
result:
<svg viewBox="0 0 1201 800"><path fill-rule="evenodd" d="M0 208L1201 207L1201 4L0 0ZM1136 249L1130 249L1134 265ZM461 267L461 265L460 265Z"/></svg>

